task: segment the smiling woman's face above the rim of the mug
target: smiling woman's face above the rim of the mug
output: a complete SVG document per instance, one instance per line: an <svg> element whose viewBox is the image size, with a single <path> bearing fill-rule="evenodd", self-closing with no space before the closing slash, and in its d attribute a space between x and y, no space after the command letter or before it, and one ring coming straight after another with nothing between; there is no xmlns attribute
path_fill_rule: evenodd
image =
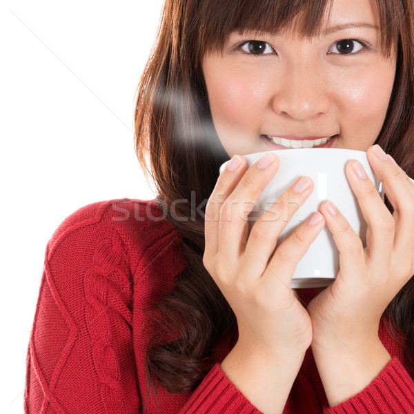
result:
<svg viewBox="0 0 414 414"><path fill-rule="evenodd" d="M379 26L375 0L334 0L318 37L230 34L223 55L203 61L213 122L228 155L371 146L395 77L395 56L382 55Z"/></svg>

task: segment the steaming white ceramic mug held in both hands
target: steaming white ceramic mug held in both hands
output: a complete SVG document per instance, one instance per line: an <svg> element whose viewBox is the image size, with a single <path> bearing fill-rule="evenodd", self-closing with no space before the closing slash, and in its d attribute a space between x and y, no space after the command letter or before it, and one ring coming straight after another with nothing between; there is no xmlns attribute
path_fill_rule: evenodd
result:
<svg viewBox="0 0 414 414"><path fill-rule="evenodd" d="M366 243L366 221L351 186L346 179L344 168L348 161L357 159L366 175L373 181L378 193L384 198L382 184L375 175L366 158L366 152L357 150L344 150L339 148L302 148L295 150L271 151L277 154L280 160L279 170L275 177L264 189L259 201L250 213L249 226L270 208L279 195L293 184L293 182L306 175L313 180L315 188L304 204L299 207L290 221L287 217L275 217L270 219L285 219L288 221L286 228L277 240L277 246L293 233L293 230L303 221L306 221L313 213L319 210L319 205L324 200L331 200L339 208L339 211L348 220L349 224L359 235L362 243ZM263 153L245 155L248 166L254 164ZM224 170L226 164L220 167ZM319 233L313 244L309 247L304 257L299 261L293 275L292 288L316 288L328 286L333 282L339 270L339 252L328 228Z"/></svg>

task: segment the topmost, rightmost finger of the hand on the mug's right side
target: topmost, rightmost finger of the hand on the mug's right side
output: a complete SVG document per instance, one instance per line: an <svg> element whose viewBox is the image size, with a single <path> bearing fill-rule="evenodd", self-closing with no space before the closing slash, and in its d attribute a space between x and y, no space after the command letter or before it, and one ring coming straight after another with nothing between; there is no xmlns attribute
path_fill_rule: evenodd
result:
<svg viewBox="0 0 414 414"><path fill-rule="evenodd" d="M368 161L382 181L382 186L394 208L395 250L413 248L414 232L414 190L406 173L391 159L380 146L367 151Z"/></svg>

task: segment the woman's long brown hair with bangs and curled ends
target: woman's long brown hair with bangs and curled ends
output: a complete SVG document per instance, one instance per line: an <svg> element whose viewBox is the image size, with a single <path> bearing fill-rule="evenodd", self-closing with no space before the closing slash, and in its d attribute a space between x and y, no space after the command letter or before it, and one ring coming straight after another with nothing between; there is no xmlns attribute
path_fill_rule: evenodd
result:
<svg viewBox="0 0 414 414"><path fill-rule="evenodd" d="M210 116L201 61L222 50L234 30L275 30L296 17L297 30L313 36L331 0L166 0L157 43L141 78L135 110L137 156L157 186L167 219L183 237L186 268L157 304L146 369L170 393L194 390L215 361L223 335L237 339L235 315L203 266L204 208L228 155ZM397 72L384 126L377 138L414 176L414 35L411 0L377 0L386 53L397 47ZM295 20L296 22L296 20ZM368 76L368 75L367 75ZM380 87L380 86L379 86ZM175 200L186 200L170 207ZM414 280L386 309L406 337L414 362ZM157 323L157 320L159 323Z"/></svg>

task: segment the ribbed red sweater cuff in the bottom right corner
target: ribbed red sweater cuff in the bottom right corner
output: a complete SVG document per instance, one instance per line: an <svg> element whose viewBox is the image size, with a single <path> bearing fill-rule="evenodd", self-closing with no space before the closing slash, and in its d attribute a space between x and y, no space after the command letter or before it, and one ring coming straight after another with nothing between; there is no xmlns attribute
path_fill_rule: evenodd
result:
<svg viewBox="0 0 414 414"><path fill-rule="evenodd" d="M324 414L414 413L414 381L397 357L363 391Z"/></svg>

